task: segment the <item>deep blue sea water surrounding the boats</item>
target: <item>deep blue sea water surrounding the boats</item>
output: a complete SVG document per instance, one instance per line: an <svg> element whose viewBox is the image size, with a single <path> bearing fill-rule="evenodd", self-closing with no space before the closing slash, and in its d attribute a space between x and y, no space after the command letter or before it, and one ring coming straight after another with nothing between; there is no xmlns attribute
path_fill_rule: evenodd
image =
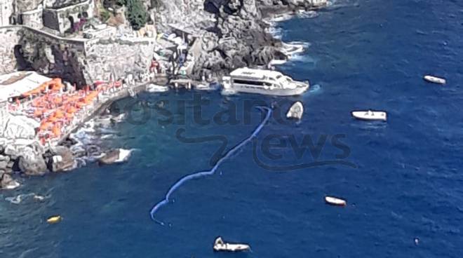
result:
<svg viewBox="0 0 463 258"><path fill-rule="evenodd" d="M177 179L209 169L220 146L182 143L176 130L184 128L185 137L225 135L230 148L260 122L257 109L244 110L246 100L283 100L203 93L210 100L203 118L236 104L241 121L199 125L192 105L181 104L194 93L144 94L139 100L165 102L175 121L160 125L166 117L149 109L147 123L112 128L116 138L107 144L137 149L128 163L24 178L20 189L0 193L1 200L50 196L43 203L0 201L0 257L463 257L462 17L457 0L337 0L316 18L279 25L284 41L311 43L281 70L319 88L283 99L302 100L304 118L299 124L272 118L257 137L257 155L270 165L310 163L309 151L297 158L289 147L271 149L281 158L270 160L259 149L272 134L299 141L312 135L314 142L328 135L318 159L333 159L343 151L330 139L345 135L344 159L357 168L265 170L246 145L217 174L176 191L175 202L156 213L167 224L161 226L149 210ZM448 83L425 83L424 74ZM387 110L387 123L349 115L368 108ZM328 206L325 195L348 205ZM60 224L44 222L55 214L64 217ZM216 236L249 243L253 252L214 253Z"/></svg>

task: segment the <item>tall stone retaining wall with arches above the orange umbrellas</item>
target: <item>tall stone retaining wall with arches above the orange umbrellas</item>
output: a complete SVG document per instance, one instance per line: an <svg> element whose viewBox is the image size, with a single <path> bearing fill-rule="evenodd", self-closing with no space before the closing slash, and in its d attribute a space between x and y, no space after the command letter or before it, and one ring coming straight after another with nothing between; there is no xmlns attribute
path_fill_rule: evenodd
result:
<svg viewBox="0 0 463 258"><path fill-rule="evenodd" d="M34 69L79 86L147 72L154 48L149 39L72 40L24 26L1 27L0 38L0 74Z"/></svg>

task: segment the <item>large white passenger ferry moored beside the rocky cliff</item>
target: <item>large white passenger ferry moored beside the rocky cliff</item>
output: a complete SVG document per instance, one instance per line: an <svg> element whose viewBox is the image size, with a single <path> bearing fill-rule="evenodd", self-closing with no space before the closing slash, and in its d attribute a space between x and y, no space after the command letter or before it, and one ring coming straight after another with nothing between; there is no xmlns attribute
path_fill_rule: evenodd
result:
<svg viewBox="0 0 463 258"><path fill-rule="evenodd" d="M272 70L243 67L222 77L222 93L257 93L263 95L301 95L309 89L309 81L293 81L289 76Z"/></svg>

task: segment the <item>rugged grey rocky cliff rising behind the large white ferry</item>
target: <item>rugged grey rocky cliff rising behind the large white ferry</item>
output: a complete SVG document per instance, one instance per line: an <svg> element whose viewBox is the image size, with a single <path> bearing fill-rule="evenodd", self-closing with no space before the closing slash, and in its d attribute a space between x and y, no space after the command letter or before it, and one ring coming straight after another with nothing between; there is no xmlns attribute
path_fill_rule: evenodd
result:
<svg viewBox="0 0 463 258"><path fill-rule="evenodd" d="M276 39L265 32L262 16L326 4L326 0L158 0L156 26L194 27L201 35L194 76L224 74L243 66L265 65L281 55Z"/></svg>

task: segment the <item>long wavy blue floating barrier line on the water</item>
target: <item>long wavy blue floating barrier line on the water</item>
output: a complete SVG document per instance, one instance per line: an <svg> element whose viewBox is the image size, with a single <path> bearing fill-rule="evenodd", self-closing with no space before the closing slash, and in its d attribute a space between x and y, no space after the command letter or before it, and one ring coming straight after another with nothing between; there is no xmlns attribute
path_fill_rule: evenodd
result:
<svg viewBox="0 0 463 258"><path fill-rule="evenodd" d="M239 144L237 144L235 147L229 149L229 151L227 151L227 153L224 156L222 156L222 158L220 158L217 161L217 163L215 163L215 165L213 166L213 168L211 170L200 171L200 172L196 172L194 174L186 175L186 176L182 177L180 180L178 180L173 186L170 186L170 189L167 192L166 197L162 201L160 201L159 203L156 203L156 205L154 205L154 207L152 208L151 212L149 212L149 214L151 215L151 218L155 222L157 222L157 223L159 223L161 225L164 225L164 222L161 222L158 219L156 219L154 217L154 215L156 214L156 212L163 205L166 205L169 202L170 195L173 194L173 192L175 190L177 190L180 186L182 186L182 184L184 184L185 182L187 182L189 180L195 179L195 178L206 177L208 175L214 175L215 171L217 171L217 168L219 168L220 164L222 164L224 161L226 161L236 151L239 151L239 149L241 149L244 145L246 145L248 142L253 140L253 138L256 137L257 134L260 133L260 131L264 127L265 123L267 123L267 121L269 121L272 110L270 108L268 108L268 107L257 107L257 108L260 109L261 111L264 111L264 110L267 111L267 115L265 116L264 120L262 120L262 122L259 124L259 126L257 126L257 128L255 128L253 133L249 137L247 137L245 140L243 140Z"/></svg>

